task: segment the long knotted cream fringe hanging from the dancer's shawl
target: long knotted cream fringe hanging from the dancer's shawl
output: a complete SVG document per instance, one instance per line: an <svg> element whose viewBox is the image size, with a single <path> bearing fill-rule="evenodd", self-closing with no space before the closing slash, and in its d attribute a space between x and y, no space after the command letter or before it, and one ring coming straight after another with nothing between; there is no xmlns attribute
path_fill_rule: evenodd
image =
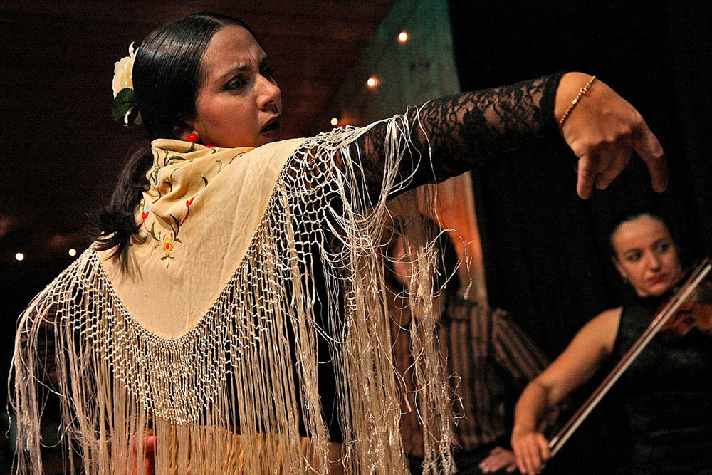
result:
<svg viewBox="0 0 712 475"><path fill-rule="evenodd" d="M92 249L40 293L21 316L9 381L18 471L41 473L39 424L54 393L70 473L141 473L147 434L157 437L157 474L406 473L399 421L407 390L392 357L384 226L400 221L393 227L418 249L411 298L431 309L429 236L415 207L394 216L387 203L408 186L401 160L424 158L411 150L417 131L402 116L391 119L382 190L370 202L350 147L366 130L300 146L234 276L182 337L142 328ZM422 418L424 473L451 473L450 390L434 318L411 328L418 403L406 408ZM321 404L319 335L330 342L340 445L330 443L330 409ZM51 359L41 357L44 342Z"/></svg>

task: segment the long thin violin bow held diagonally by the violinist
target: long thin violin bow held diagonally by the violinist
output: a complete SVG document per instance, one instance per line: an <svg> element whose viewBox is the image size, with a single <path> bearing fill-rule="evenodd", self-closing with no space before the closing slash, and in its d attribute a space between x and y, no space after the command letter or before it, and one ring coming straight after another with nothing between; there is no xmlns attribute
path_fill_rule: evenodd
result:
<svg viewBox="0 0 712 475"><path fill-rule="evenodd" d="M562 429L549 441L549 450L551 451L552 457L560 451L561 447L572 436L575 430L578 429L588 414L590 414L600 400L602 400L615 382L619 380L623 372L628 369L632 362L634 362L634 360L638 357L640 352L644 350L650 340L652 340L660 329L663 328L671 316L676 314L680 306L689 298L691 293L695 290L695 288L697 288L699 283L703 281L711 270L712 261L709 258L704 259L691 276L687 278L680 290L675 293L675 295L661 310L659 310L652 323L648 326L648 328L646 328L642 335L640 335L625 355L623 355L621 360L617 365L615 365L613 370L609 372L603 382L601 382L592 395L590 395L581 405L565 426L562 427Z"/></svg>

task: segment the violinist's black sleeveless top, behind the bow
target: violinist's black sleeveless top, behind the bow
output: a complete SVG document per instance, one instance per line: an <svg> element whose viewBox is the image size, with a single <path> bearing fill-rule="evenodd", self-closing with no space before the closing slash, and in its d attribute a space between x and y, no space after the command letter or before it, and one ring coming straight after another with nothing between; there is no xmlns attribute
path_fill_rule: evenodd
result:
<svg viewBox="0 0 712 475"><path fill-rule="evenodd" d="M623 307L613 355L620 358L651 322L661 298ZM712 474L712 337L657 335L622 378L632 437L624 473Z"/></svg>

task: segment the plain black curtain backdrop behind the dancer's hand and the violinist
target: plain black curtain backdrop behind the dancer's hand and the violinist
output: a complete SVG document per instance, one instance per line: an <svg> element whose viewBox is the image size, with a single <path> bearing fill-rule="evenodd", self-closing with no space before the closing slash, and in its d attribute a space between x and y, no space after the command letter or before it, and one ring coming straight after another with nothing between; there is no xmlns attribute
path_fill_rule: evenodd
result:
<svg viewBox="0 0 712 475"><path fill-rule="evenodd" d="M666 151L671 179L662 194L651 191L636 157L609 189L579 199L575 157L562 143L475 175L490 303L511 311L555 357L587 320L620 305L624 290L609 260L607 231L623 209L657 207L676 226L690 260L712 255L712 3L451 1L450 9L463 90L553 71L595 74L642 113ZM550 469L607 473L625 456L617 396L606 399Z"/></svg>

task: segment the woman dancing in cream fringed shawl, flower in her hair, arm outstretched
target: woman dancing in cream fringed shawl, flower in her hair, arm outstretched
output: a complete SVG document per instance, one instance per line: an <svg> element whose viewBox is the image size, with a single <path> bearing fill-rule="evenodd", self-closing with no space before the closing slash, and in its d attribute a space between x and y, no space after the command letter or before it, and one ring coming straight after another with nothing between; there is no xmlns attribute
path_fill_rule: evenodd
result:
<svg viewBox="0 0 712 475"><path fill-rule="evenodd" d="M404 385L379 236L389 200L561 136L579 158L582 197L607 187L632 150L654 189L666 186L663 151L639 113L582 73L278 141L281 93L241 21L187 16L130 53L117 64L113 110L140 120L152 142L122 172L95 245L21 318L21 470L41 471L46 384L66 447L90 473L135 469L146 447L159 473L402 473ZM412 211L404 229L425 244L415 200L401 200ZM419 259L431 254L424 245ZM427 308L429 275L417 278L413 298ZM449 472L434 321L413 328L424 335L413 348L424 469Z"/></svg>

